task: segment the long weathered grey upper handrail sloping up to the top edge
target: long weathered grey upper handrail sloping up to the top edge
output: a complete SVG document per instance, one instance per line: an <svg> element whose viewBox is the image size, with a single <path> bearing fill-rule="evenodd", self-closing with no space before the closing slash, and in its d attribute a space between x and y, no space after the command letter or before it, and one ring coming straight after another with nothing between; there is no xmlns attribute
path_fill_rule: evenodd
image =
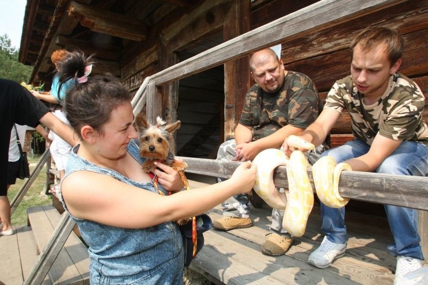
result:
<svg viewBox="0 0 428 285"><path fill-rule="evenodd" d="M151 80L156 85L178 80L401 2L403 0L322 0L167 68Z"/></svg>

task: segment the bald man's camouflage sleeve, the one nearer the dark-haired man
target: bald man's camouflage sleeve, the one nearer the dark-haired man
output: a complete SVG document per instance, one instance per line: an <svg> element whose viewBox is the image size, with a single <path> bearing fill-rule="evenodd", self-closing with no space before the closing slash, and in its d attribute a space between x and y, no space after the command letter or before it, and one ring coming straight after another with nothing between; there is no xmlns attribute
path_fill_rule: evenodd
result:
<svg viewBox="0 0 428 285"><path fill-rule="evenodd" d="M288 124L306 128L317 118L319 104L319 96L313 89L296 90L288 101Z"/></svg>

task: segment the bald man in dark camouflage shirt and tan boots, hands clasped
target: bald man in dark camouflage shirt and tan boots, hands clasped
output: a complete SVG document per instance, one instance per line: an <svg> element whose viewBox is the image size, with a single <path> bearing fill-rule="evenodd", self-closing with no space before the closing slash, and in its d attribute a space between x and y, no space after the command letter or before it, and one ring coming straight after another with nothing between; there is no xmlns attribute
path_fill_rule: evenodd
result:
<svg viewBox="0 0 428 285"><path fill-rule="evenodd" d="M256 84L247 92L235 139L222 144L219 160L248 161L263 150L279 149L285 137L301 134L323 109L313 82L302 73L286 71L273 50L267 48L252 54L250 68ZM326 148L327 144L322 144L308 152L309 162L314 163ZM225 201L224 217L212 226L218 230L251 227L247 204L246 194ZM272 234L262 245L265 254L284 254L293 241L282 228L283 215L284 211L272 211Z"/></svg>

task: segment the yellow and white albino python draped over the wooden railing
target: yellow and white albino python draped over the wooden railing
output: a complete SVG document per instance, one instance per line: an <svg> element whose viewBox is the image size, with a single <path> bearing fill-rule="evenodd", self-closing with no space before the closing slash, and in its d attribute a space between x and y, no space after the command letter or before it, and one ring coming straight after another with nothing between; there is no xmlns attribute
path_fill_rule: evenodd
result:
<svg viewBox="0 0 428 285"><path fill-rule="evenodd" d="M295 135L290 135L287 141L289 146L294 148L315 148ZM283 151L267 149L260 152L253 163L257 165L254 191L272 208L285 210L282 227L293 236L302 236L313 206L313 191L307 175L309 163L306 157L297 150L287 159ZM273 171L281 165L287 167L288 197L279 192L273 183ZM312 166L316 195L329 207L341 208L349 201L340 196L338 189L343 170L352 169L345 163L336 165L335 160L329 156L319 159Z"/></svg>

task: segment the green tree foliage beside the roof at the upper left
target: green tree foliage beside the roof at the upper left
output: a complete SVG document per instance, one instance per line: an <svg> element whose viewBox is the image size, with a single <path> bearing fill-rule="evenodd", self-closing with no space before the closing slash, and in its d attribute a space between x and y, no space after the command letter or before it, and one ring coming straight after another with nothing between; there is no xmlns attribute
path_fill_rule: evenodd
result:
<svg viewBox="0 0 428 285"><path fill-rule="evenodd" d="M30 79L32 66L18 62L19 50L12 47L7 34L0 36L0 78L11 79L21 83Z"/></svg>

